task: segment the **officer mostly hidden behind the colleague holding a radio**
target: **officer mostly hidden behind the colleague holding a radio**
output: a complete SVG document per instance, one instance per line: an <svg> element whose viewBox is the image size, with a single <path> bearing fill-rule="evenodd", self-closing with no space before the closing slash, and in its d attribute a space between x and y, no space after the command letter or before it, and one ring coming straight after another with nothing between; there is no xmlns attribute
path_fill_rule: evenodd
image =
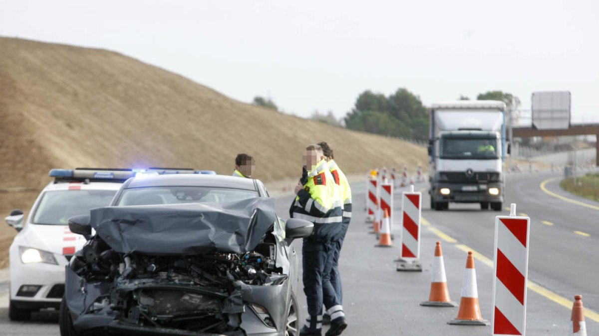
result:
<svg viewBox="0 0 599 336"><path fill-rule="evenodd" d="M326 163L329 166L329 170L333 176L333 179L335 180L335 184L337 184L338 199L340 199L343 203L343 232L341 239L333 244L334 252L331 273L325 274L324 276L325 280L329 279L331 281L331 285L335 289L335 294L337 294L337 300L340 304L343 304L343 289L341 288L341 276L339 273L339 255L341 252L341 247L343 246L343 239L345 238L347 228L349 227L349 222L352 219L352 189L349 187L349 182L347 182L345 174L337 166L337 163L335 163L333 150L326 142L319 142L318 145L320 148L322 148L322 153L325 155ZM322 322L323 324L330 323L329 314L325 313L323 315Z"/></svg>

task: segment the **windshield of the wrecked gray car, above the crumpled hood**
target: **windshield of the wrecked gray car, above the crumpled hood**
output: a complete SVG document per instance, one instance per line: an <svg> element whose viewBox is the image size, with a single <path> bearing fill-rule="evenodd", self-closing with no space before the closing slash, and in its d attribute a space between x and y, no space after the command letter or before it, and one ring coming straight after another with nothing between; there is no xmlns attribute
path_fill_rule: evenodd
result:
<svg viewBox="0 0 599 336"><path fill-rule="evenodd" d="M145 187L123 190L116 205L224 203L258 197L258 191L216 187Z"/></svg>

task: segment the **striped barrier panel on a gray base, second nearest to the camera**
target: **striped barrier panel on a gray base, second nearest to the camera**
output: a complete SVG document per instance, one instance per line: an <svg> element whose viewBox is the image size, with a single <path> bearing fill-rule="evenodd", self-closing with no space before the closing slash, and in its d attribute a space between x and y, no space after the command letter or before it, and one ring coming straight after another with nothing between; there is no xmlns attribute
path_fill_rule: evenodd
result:
<svg viewBox="0 0 599 336"><path fill-rule="evenodd" d="M395 265L398 271L422 271L420 263L420 216L422 215L422 193L410 191L401 193L401 252Z"/></svg>

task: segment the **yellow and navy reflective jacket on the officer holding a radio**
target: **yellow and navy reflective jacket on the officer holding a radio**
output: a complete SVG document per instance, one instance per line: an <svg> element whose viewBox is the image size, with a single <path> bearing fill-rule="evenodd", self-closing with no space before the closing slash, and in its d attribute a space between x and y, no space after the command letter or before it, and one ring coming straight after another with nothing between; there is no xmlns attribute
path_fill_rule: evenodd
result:
<svg viewBox="0 0 599 336"><path fill-rule="evenodd" d="M337 242L343 236L341 227L341 201L334 178L326 160L320 160L308 172L304 189L298 191L293 207L293 218L314 223L314 230L307 240Z"/></svg>

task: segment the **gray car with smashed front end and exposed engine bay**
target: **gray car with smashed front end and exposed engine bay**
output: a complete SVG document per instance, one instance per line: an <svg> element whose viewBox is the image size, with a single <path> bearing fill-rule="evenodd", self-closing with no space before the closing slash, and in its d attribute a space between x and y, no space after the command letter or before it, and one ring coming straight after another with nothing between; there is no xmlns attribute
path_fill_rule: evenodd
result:
<svg viewBox="0 0 599 336"><path fill-rule="evenodd" d="M258 180L130 179L69 219L88 241L66 267L60 334L298 335L291 243L312 226L283 222Z"/></svg>

